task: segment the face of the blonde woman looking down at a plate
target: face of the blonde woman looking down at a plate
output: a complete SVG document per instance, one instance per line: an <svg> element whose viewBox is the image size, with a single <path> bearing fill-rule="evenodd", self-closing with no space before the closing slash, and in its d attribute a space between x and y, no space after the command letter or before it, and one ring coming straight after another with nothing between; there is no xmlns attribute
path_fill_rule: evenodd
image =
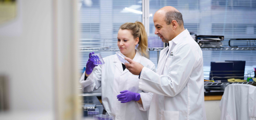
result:
<svg viewBox="0 0 256 120"><path fill-rule="evenodd" d="M139 37L132 36L131 30L119 29L117 34L117 45L120 52L124 55L135 52L135 46L139 43Z"/></svg>

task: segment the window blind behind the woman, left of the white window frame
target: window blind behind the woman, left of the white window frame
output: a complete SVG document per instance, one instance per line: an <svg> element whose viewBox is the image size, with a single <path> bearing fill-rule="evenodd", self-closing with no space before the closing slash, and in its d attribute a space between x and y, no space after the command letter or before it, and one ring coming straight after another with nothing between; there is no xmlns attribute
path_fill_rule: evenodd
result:
<svg viewBox="0 0 256 120"><path fill-rule="evenodd" d="M80 48L117 47L117 33L125 22L142 21L141 0L79 0ZM80 52L80 69L86 67L88 51ZM102 57L115 51L95 51Z"/></svg>

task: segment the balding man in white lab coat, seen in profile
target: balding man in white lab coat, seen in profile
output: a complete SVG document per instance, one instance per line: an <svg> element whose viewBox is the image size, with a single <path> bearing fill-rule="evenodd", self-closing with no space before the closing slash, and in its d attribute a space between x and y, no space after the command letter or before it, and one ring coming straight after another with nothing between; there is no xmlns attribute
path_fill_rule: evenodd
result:
<svg viewBox="0 0 256 120"><path fill-rule="evenodd" d="M139 89L153 92L149 120L206 120L203 54L171 6L154 15L155 34L168 46L160 52L157 72L129 58L126 68L140 75Z"/></svg>

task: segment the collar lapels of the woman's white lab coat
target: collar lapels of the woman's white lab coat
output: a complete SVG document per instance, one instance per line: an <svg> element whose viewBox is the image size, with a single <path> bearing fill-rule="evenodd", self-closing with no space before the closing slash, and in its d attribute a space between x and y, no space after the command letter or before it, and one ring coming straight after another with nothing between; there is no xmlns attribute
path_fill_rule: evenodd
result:
<svg viewBox="0 0 256 120"><path fill-rule="evenodd" d="M135 50L135 52L136 52L136 54L135 54L135 56L134 56L134 58L133 58L132 60L135 61L135 62L139 62L139 63L140 63L140 60L141 60L140 53L139 53L139 51L137 51L137 50ZM116 62L115 65L116 65L116 67L120 70L120 72L122 72L122 74L124 74L124 73L126 73L127 71L129 71L129 70L127 70L127 69L124 69L124 70L123 70L122 62L118 59L118 57L117 57L116 54L115 54L115 57L114 57L113 62Z"/></svg>

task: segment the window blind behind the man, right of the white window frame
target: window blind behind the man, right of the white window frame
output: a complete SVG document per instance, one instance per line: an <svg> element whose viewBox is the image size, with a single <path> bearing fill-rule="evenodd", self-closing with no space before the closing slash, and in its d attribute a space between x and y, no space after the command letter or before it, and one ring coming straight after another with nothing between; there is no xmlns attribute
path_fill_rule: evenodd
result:
<svg viewBox="0 0 256 120"><path fill-rule="evenodd" d="M256 38L256 0L150 0L149 13L154 16L164 6L173 6L182 13L184 28L189 32L223 35L224 47L228 46L231 38ZM153 17L149 18L149 26L149 36L156 36ZM240 41L237 44L244 43ZM209 79L210 64L214 61L244 60L246 75L256 67L255 55L256 51L252 50L203 51L204 79ZM157 64L157 58L153 56L156 56L155 51L150 52L150 60ZM253 72L251 76L254 76Z"/></svg>

